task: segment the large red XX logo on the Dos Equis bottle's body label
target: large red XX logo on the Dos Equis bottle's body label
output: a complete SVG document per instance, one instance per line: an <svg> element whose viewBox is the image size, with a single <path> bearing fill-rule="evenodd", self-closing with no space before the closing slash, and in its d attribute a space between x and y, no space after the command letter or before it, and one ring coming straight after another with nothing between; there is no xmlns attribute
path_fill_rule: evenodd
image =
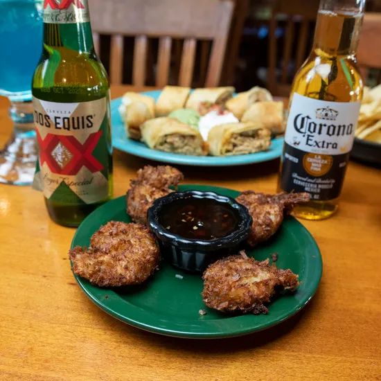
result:
<svg viewBox="0 0 381 381"><path fill-rule="evenodd" d="M58 175L76 175L82 166L85 166L90 172L98 172L103 170L103 165L93 156L94 148L102 135L102 131L90 134L85 143L81 144L74 136L63 136L47 134L45 139L42 139L37 132L37 140L39 144L39 163L42 166L45 162L49 169ZM59 157L53 152L57 145L61 143ZM62 150L68 152L69 161L62 168ZM53 153L53 154L52 154Z"/></svg>

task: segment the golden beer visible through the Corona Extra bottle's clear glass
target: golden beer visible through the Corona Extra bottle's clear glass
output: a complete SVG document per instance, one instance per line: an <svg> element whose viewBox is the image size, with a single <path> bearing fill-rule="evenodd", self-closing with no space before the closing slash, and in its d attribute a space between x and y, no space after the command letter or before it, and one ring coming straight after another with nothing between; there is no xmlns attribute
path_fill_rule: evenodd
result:
<svg viewBox="0 0 381 381"><path fill-rule="evenodd" d="M362 99L362 79L355 58L362 16L358 10L319 10L314 46L296 73L290 105L294 93L331 102L357 102ZM278 190L283 190L280 180L281 177ZM311 201L296 206L294 214L308 220L322 220L333 215L337 205L338 198Z"/></svg>

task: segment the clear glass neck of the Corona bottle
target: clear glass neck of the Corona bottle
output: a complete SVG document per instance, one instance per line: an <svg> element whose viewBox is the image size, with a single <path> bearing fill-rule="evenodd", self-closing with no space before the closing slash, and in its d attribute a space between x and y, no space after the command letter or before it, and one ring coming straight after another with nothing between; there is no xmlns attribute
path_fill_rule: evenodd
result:
<svg viewBox="0 0 381 381"><path fill-rule="evenodd" d="M314 34L318 55L355 55L360 38L364 0L321 0Z"/></svg>

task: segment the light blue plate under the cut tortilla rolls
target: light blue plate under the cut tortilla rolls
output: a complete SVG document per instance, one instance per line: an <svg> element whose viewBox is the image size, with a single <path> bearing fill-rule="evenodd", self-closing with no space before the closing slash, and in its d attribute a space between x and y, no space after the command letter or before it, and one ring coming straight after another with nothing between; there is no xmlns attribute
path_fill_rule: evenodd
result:
<svg viewBox="0 0 381 381"><path fill-rule="evenodd" d="M152 96L155 100L159 98L161 91L146 91L143 94ZM251 163L260 163L269 161L281 156L283 150L283 138L272 140L272 145L265 152L256 152L255 154L240 154L237 156L188 156L185 154L172 154L169 152L161 152L151 150L144 143L128 139L125 134L125 126L118 112L121 105L121 98L112 100L112 144L114 148L134 154L135 156L144 157L145 159L163 161L164 163L183 164L187 166L242 166Z"/></svg>

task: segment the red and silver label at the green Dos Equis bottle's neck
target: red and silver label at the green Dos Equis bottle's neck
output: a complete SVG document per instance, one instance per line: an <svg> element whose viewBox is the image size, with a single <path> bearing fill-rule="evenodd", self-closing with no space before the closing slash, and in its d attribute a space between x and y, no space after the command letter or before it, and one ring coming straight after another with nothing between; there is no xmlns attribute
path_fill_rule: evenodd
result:
<svg viewBox="0 0 381 381"><path fill-rule="evenodd" d="M45 0L44 23L76 24L89 22L87 0Z"/></svg>

